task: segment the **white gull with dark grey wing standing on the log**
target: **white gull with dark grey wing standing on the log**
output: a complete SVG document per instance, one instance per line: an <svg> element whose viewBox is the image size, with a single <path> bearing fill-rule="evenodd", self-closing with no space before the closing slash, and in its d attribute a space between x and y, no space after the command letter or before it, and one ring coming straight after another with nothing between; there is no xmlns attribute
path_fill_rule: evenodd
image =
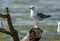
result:
<svg viewBox="0 0 60 41"><path fill-rule="evenodd" d="M33 20L36 21L36 25L39 24L39 22L38 22L39 20L42 21L42 20L45 19L45 18L51 17L51 15L45 15L45 14L43 14L43 13L37 12L37 11L35 10L35 7L34 7L33 5L30 6L29 9L31 10L30 16L31 16L31 18L32 18Z"/></svg>

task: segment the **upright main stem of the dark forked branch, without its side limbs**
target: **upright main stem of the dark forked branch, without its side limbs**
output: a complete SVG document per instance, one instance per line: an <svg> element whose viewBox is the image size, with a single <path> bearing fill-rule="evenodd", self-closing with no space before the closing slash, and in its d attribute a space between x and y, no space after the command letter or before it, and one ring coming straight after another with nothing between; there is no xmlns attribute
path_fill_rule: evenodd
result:
<svg viewBox="0 0 60 41"><path fill-rule="evenodd" d="M13 25L12 25L12 21L11 21L11 16L9 14L9 10L8 10L8 7L6 8L6 12L7 12L7 22L8 22L8 26L9 26L9 29L12 33L12 37L13 37L13 40L14 41L19 41L19 37L18 37L18 32L17 30L14 29Z"/></svg>

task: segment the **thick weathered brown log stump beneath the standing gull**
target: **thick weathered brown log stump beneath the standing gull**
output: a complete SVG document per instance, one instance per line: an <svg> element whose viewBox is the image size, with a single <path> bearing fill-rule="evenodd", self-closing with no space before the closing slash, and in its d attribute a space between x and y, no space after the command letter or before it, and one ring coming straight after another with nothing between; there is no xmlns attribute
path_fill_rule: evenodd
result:
<svg viewBox="0 0 60 41"><path fill-rule="evenodd" d="M42 36L42 30L34 26L21 41L39 41Z"/></svg>

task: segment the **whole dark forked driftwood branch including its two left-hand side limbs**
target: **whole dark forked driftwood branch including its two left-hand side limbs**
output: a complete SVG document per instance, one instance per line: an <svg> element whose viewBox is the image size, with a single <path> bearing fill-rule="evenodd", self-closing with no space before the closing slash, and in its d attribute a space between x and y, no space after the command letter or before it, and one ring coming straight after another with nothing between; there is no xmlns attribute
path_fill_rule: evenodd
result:
<svg viewBox="0 0 60 41"><path fill-rule="evenodd" d="M9 14L8 7L6 8L6 12L7 12L7 14L5 14L5 15L0 14L0 17L1 18L7 18L9 30L0 28L0 32L11 35L13 37L14 41L19 41L18 32L14 29L14 27L12 25L11 16Z"/></svg>

